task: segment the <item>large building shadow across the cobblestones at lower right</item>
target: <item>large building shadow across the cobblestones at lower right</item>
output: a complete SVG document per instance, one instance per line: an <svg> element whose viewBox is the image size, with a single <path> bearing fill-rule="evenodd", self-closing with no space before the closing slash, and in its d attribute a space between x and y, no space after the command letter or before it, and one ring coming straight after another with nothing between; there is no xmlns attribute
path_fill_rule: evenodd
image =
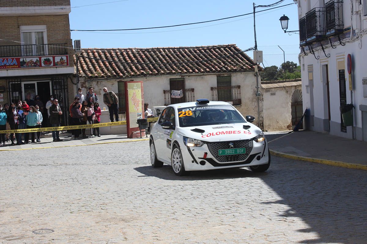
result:
<svg viewBox="0 0 367 244"><path fill-rule="evenodd" d="M269 174L259 177L282 200L264 203L288 206L279 213L280 218L301 218L309 228L298 231L319 236L301 243L367 243L367 177L363 170L272 159Z"/></svg>

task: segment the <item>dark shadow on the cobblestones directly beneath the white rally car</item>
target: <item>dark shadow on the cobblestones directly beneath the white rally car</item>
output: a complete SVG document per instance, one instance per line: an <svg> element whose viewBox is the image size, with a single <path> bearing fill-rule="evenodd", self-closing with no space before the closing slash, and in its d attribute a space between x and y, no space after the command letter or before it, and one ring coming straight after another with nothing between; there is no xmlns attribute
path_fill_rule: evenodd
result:
<svg viewBox="0 0 367 244"><path fill-rule="evenodd" d="M205 171L190 171L187 176L176 176L170 165L163 165L162 168L152 168L152 166L142 166L134 168L139 173L144 174L144 176L153 176L163 180L215 180L215 179L235 179L244 177L261 177L266 174L264 173L254 173L250 169L246 168L232 168L232 169L215 169L215 170L205 170Z"/></svg>

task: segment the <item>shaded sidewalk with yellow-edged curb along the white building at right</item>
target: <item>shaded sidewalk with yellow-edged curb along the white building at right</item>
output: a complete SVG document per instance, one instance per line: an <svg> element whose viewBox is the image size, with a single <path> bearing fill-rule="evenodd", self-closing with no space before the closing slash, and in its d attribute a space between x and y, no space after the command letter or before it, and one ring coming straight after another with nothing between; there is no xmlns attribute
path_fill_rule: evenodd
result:
<svg viewBox="0 0 367 244"><path fill-rule="evenodd" d="M269 133L266 138L272 155L367 170L367 142L313 131Z"/></svg>

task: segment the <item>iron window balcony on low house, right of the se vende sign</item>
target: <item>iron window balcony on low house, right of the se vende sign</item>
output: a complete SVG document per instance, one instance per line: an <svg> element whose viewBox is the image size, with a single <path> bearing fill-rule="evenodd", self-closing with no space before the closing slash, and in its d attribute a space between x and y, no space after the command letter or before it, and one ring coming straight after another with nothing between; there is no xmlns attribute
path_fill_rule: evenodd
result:
<svg viewBox="0 0 367 244"><path fill-rule="evenodd" d="M241 105L241 86L214 86L210 87L212 101L232 102Z"/></svg>

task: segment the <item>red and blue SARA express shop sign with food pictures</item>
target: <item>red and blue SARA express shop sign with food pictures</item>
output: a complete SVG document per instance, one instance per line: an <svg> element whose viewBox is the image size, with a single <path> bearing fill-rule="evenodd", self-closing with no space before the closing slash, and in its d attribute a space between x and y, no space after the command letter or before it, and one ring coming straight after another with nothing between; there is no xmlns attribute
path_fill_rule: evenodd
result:
<svg viewBox="0 0 367 244"><path fill-rule="evenodd" d="M69 66L68 55L0 58L0 69Z"/></svg>

